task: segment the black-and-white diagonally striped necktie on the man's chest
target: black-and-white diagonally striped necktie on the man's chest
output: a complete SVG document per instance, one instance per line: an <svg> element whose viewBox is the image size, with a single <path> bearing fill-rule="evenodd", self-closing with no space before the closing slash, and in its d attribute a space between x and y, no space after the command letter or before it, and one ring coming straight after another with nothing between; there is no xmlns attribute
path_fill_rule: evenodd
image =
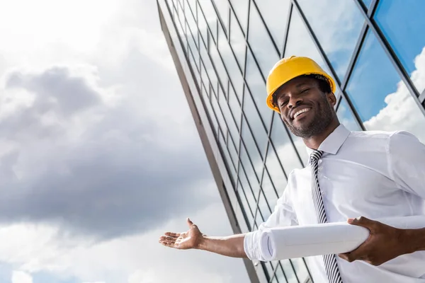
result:
<svg viewBox="0 0 425 283"><path fill-rule="evenodd" d="M310 155L310 166L312 168L312 196L314 207L316 207L317 212L317 222L319 224L327 223L322 193L320 192L319 179L317 178L317 171L319 167L318 163L319 159L322 157L322 154L323 151L313 151ZM336 264L336 255L323 255L323 260L329 283L342 283L338 265Z"/></svg>

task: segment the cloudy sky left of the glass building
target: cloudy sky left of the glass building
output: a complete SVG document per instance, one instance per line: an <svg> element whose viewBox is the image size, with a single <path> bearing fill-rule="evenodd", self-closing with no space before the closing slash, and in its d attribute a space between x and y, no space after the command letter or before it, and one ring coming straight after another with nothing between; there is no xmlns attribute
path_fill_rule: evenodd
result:
<svg viewBox="0 0 425 283"><path fill-rule="evenodd" d="M158 243L232 231L156 1L0 0L0 38L0 282L248 280Z"/></svg>

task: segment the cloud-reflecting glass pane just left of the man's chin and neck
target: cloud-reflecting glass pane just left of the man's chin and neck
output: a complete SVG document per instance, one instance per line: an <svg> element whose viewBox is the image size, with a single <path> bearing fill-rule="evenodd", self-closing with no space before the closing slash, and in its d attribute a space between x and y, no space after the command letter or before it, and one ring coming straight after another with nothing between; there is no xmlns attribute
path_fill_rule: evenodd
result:
<svg viewBox="0 0 425 283"><path fill-rule="evenodd" d="M285 172L293 171L295 168L302 168L300 159L298 158L293 144L290 142L288 133L286 132L285 125L282 120L280 120L280 116L277 112L273 117L271 141L273 141L276 154L278 154L278 158L280 159L280 163L282 163Z"/></svg>

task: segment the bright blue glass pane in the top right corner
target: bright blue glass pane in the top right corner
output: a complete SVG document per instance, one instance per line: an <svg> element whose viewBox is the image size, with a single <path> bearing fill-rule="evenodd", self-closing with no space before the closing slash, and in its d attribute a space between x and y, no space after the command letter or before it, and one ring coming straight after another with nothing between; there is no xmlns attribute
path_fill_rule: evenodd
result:
<svg viewBox="0 0 425 283"><path fill-rule="evenodd" d="M380 1L375 21L419 93L425 88L425 1Z"/></svg>

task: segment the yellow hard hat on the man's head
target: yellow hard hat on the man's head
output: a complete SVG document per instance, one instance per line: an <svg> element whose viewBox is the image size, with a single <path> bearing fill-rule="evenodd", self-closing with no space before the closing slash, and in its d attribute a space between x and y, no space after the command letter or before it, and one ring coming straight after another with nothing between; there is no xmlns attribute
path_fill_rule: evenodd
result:
<svg viewBox="0 0 425 283"><path fill-rule="evenodd" d="M308 74L319 74L327 78L331 85L331 91L335 93L334 79L323 71L319 64L307 57L291 56L280 59L268 74L266 83L267 106L280 113L279 108L273 106L273 93L280 88L280 86L283 86L283 83L287 83L297 76Z"/></svg>

